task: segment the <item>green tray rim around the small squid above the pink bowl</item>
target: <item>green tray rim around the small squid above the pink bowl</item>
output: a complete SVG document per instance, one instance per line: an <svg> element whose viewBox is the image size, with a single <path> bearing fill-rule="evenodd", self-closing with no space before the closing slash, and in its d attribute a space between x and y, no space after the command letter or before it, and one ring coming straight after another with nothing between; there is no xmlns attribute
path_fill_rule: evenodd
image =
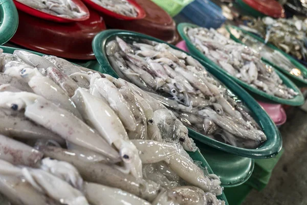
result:
<svg viewBox="0 0 307 205"><path fill-rule="evenodd" d="M270 95L264 91L261 91L259 89L253 88L250 85L248 85L247 83L245 83L244 81L230 75L227 71L225 71L224 69L220 68L220 66L217 66L212 60L210 60L208 57L206 57L200 50L198 50L190 41L189 37L187 36L187 34L184 32L184 28L185 27L199 27L196 26L194 24L188 24L188 23L182 23L178 25L178 32L181 35L181 37L185 40L187 48L189 49L189 51L200 57L201 59L205 60L208 64L210 64L212 67L214 67L216 70L221 71L222 73L226 74L227 76L229 76L232 80L234 80L237 84L239 84L240 86L242 86L243 88L245 88L247 91L249 91L249 93L255 97L258 100L261 101L269 101L269 102L273 102L273 103L279 103L279 104L284 104L284 105L290 105L290 106L300 106L302 104L304 104L304 97L303 94L301 93L301 91L299 90L299 88L290 80L288 79L286 76L284 76L281 72L279 72L278 70L276 70L277 74L279 75L279 77L282 79L283 83L289 87L292 88L293 90L295 90L296 92L298 92L299 94L297 96L295 96L292 99L283 99L280 97L276 97L274 95Z"/></svg>

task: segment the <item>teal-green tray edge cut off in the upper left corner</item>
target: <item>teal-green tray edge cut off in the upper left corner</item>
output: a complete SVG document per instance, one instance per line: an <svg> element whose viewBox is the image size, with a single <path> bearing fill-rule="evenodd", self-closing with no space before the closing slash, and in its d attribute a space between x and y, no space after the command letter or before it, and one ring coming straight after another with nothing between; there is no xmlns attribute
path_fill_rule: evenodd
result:
<svg viewBox="0 0 307 205"><path fill-rule="evenodd" d="M18 27L18 13L13 0L0 0L0 45L7 43Z"/></svg>

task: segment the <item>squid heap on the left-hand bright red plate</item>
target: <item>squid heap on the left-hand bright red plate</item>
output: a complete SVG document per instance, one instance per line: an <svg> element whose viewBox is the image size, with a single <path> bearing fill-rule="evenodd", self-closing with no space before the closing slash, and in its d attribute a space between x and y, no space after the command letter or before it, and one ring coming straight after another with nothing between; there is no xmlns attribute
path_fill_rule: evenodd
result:
<svg viewBox="0 0 307 205"><path fill-rule="evenodd" d="M87 13L81 11L72 0L16 0L29 7L64 18L80 18Z"/></svg>

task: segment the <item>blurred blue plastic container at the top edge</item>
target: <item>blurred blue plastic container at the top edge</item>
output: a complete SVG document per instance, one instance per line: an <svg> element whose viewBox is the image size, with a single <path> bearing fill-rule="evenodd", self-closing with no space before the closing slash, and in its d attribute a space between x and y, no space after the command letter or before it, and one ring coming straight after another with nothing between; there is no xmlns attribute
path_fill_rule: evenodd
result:
<svg viewBox="0 0 307 205"><path fill-rule="evenodd" d="M219 28L225 22L221 7L208 0L195 0L186 6L176 17L205 28Z"/></svg>

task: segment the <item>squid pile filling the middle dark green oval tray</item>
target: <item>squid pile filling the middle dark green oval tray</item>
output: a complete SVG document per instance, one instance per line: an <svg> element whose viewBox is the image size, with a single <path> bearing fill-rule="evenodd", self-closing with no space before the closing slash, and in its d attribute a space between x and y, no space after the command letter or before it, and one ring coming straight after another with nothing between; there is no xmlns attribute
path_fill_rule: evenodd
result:
<svg viewBox="0 0 307 205"><path fill-rule="evenodd" d="M117 36L107 43L109 63L121 78L158 99L184 125L236 147L257 148L267 139L247 108L198 60L167 44L128 41Z"/></svg>

